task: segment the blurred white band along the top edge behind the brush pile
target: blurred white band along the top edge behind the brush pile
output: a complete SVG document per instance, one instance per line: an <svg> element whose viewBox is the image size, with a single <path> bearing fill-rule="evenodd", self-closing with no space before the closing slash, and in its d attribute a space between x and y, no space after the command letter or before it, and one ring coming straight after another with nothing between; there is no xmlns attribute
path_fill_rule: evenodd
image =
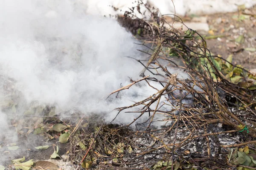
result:
<svg viewBox="0 0 256 170"><path fill-rule="evenodd" d="M114 11L110 6L115 6L123 10L134 6L135 0L80 0L87 8L88 14L122 14L120 11ZM175 4L176 14L184 16L185 14L213 14L219 12L236 11L239 5L245 5L247 8L256 4L256 0L143 0L144 3L151 3L159 8L162 14L173 14ZM136 3L135 3L136 4Z"/></svg>

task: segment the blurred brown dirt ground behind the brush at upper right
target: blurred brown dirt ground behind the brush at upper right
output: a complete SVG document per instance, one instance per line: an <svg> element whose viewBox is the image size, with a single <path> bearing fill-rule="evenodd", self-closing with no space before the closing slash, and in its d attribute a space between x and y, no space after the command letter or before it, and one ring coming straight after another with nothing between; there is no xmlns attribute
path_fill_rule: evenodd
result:
<svg viewBox="0 0 256 170"><path fill-rule="evenodd" d="M207 40L207 48L227 58L233 54L233 63L256 72L256 6L235 13L206 16L208 36L224 37Z"/></svg>

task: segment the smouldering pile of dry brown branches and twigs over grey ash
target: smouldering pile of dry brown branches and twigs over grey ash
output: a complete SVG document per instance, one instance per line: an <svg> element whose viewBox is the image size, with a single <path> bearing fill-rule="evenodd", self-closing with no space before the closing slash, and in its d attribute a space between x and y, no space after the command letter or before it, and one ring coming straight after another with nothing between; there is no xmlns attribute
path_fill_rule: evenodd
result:
<svg viewBox="0 0 256 170"><path fill-rule="evenodd" d="M140 13L140 6L148 9L150 19L136 17L134 11ZM183 23L172 17L173 22ZM233 65L231 57L212 55L197 31L182 33L147 4L138 4L118 20L151 52L144 51L147 62L137 60L144 67L138 73L142 78L111 95L141 82L151 88L156 88L151 82L158 82L162 88L140 102L116 108L118 114L138 113L128 125L102 124L96 128L96 136L71 139L72 150L79 148L71 159L79 164L87 151L82 165L96 169L255 169L256 76ZM179 68L188 77L178 78L169 72L170 67ZM146 71L152 76L145 76ZM126 111L134 107L140 109ZM144 115L148 116L145 124L136 124ZM162 119L157 121L163 123L156 127L153 122L159 115ZM83 150L83 145L90 151ZM235 147L239 151L231 149ZM250 150L245 152L245 148ZM241 158L239 154L245 155ZM254 155L248 163L249 154Z"/></svg>

